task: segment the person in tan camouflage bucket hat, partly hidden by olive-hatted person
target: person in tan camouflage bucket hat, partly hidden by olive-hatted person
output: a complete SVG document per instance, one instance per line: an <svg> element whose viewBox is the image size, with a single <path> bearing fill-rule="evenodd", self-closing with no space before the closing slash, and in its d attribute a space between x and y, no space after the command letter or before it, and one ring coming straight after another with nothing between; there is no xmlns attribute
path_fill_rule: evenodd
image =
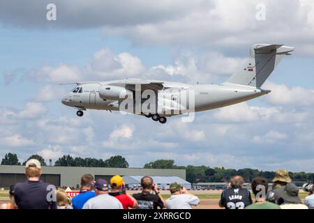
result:
<svg viewBox="0 0 314 223"><path fill-rule="evenodd" d="M291 183L289 172L286 169L276 170L275 177L273 179L273 187L266 196L267 201L281 205L281 203L283 203L283 199L280 197L278 191L281 187L285 187L287 183Z"/></svg>

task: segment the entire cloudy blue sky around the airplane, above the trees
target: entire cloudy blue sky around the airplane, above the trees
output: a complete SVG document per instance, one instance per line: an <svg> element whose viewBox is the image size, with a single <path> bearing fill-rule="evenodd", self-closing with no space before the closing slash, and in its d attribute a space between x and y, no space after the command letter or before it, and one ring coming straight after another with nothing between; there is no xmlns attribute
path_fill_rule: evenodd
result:
<svg viewBox="0 0 314 223"><path fill-rule="evenodd" d="M49 3L56 20L47 20ZM49 14L50 15L50 14ZM314 169L314 1L0 2L0 157L65 154L130 167ZM296 47L262 86L269 95L161 125L88 110L77 117L64 82L126 77L220 84L255 43Z"/></svg>

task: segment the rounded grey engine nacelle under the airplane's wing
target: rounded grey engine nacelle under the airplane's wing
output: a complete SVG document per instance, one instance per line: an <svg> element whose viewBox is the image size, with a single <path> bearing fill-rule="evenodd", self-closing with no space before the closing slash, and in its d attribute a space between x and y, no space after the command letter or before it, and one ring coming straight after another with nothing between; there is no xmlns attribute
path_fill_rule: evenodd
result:
<svg viewBox="0 0 314 223"><path fill-rule="evenodd" d="M128 95L132 96L133 92L121 86L103 85L99 88L99 97L105 100L123 100Z"/></svg>

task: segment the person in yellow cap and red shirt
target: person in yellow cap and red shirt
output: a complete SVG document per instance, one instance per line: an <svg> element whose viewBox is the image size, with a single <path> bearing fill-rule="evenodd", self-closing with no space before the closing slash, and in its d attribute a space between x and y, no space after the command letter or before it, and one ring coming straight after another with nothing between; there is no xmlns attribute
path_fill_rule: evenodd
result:
<svg viewBox="0 0 314 223"><path fill-rule="evenodd" d="M110 179L111 196L117 198L124 206L124 209L137 208L137 201L134 197L127 194L124 190L124 178L119 175L113 176Z"/></svg>

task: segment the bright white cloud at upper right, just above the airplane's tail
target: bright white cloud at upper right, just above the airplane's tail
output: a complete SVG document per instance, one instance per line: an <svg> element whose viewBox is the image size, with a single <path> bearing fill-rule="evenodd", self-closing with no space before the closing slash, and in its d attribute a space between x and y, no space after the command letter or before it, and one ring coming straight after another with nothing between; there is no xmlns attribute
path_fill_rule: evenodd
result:
<svg viewBox="0 0 314 223"><path fill-rule="evenodd" d="M162 22L146 22L129 26L106 26L105 35L124 36L136 45L196 45L199 47L228 47L239 49L248 43L294 43L298 48L313 46L314 26L309 5L311 1L271 1L267 20L258 21L259 0L211 1L191 8L179 17ZM208 2L207 2L208 3ZM282 10L285 6L285 10ZM291 33L291 30L294 33ZM313 55L313 52L312 52Z"/></svg>

